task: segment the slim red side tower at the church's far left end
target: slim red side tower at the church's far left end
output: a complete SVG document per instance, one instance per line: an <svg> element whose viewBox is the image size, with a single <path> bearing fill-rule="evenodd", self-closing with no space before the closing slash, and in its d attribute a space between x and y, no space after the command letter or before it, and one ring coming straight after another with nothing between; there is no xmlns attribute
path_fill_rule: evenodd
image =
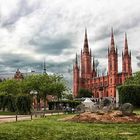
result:
<svg viewBox="0 0 140 140"><path fill-rule="evenodd" d="M78 58L76 54L75 64L73 66L73 95L76 97L79 91L79 66L78 66Z"/></svg>

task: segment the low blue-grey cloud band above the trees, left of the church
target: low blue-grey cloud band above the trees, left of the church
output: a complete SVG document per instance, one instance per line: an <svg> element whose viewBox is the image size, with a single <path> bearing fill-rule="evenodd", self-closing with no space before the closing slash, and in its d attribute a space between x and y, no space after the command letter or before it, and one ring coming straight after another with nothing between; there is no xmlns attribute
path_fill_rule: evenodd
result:
<svg viewBox="0 0 140 140"><path fill-rule="evenodd" d="M0 72L4 72L4 67L10 67L12 72L15 72L18 68L24 71L28 68L37 72L43 71L43 60L37 61L21 54L3 54L0 58L2 59L0 63ZM48 72L64 74L72 70L72 60L60 63L46 61L45 63Z"/></svg>

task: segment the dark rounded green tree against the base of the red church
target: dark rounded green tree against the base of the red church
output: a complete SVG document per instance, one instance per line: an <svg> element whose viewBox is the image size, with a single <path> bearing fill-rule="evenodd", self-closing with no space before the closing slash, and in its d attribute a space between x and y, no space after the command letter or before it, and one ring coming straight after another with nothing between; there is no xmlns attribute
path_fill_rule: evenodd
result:
<svg viewBox="0 0 140 140"><path fill-rule="evenodd" d="M82 98L82 97L92 97L92 92L89 91L88 89L83 89L81 88L78 92L78 98Z"/></svg>

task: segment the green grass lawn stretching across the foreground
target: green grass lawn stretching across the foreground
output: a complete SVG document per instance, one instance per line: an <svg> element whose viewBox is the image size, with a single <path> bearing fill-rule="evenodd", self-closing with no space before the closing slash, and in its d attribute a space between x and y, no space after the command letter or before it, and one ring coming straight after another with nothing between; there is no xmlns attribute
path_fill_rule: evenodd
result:
<svg viewBox="0 0 140 140"><path fill-rule="evenodd" d="M64 116L0 124L0 140L140 140L140 124L58 121Z"/></svg>

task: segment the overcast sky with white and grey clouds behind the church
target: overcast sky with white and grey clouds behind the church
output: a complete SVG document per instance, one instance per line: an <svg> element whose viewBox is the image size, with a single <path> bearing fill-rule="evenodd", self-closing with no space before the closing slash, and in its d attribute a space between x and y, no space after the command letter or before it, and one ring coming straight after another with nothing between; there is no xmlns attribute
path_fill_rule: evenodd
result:
<svg viewBox="0 0 140 140"><path fill-rule="evenodd" d="M119 56L126 32L133 72L140 70L139 0L0 0L0 73L42 72L45 59L47 72L71 79L85 27L99 69L107 68L113 27Z"/></svg>

